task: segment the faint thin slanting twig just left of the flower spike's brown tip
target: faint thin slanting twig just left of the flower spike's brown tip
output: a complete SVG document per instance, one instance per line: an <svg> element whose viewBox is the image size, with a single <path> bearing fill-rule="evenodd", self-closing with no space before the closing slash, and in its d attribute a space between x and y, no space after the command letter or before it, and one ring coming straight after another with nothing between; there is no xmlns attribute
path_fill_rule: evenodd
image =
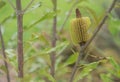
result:
<svg viewBox="0 0 120 82"><path fill-rule="evenodd" d="M76 6L76 4L78 3L78 1L79 1L79 0L76 0L75 3L74 3L74 4L72 5L72 7L70 8L70 10L68 11L68 15L66 16L66 18L65 18L62 26L60 27L59 33L61 33L61 32L63 31L63 28L64 28L66 22L68 21L70 15L71 15L71 12L73 11L73 9L74 9L74 7Z"/></svg>

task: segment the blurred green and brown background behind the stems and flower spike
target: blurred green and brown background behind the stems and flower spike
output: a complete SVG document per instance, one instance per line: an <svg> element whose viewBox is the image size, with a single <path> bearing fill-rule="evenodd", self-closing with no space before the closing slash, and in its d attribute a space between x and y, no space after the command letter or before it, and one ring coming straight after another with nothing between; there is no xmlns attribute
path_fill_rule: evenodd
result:
<svg viewBox="0 0 120 82"><path fill-rule="evenodd" d="M16 1L11 0L15 5ZM69 36L71 19L75 9L82 16L90 17L90 33L96 29L113 0L57 0L57 11L53 11L52 0L34 0L24 14L24 74L25 82L67 82L71 68L78 56ZM22 9L30 0L22 0ZM51 47L53 17L57 15L57 45ZM17 80L17 22L16 14L7 0L0 0L0 23L6 53L11 69L11 82ZM0 47L1 48L1 47ZM78 48L79 49L79 48ZM56 80L49 74L52 51L56 51ZM97 58L86 60L86 68L76 76L75 82L119 82L120 81L120 1L92 43L90 55L112 57L105 65L98 65ZM0 57L2 61L2 57ZM92 61L92 62L91 62ZM90 64L89 64L90 63ZM115 67L115 68L114 68ZM0 81L5 82L4 65L0 64ZM85 71L89 70L90 71ZM79 73L79 72L78 72ZM117 80L117 81L116 81Z"/></svg>

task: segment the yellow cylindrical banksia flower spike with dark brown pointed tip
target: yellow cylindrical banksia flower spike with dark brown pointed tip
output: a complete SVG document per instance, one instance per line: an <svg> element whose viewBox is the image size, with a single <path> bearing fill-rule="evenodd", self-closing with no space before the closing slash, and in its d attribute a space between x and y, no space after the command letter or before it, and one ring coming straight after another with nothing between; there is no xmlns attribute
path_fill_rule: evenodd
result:
<svg viewBox="0 0 120 82"><path fill-rule="evenodd" d="M76 18L71 21L70 35L73 44L85 44L89 40L88 29L91 22L89 17L82 17L76 9Z"/></svg>

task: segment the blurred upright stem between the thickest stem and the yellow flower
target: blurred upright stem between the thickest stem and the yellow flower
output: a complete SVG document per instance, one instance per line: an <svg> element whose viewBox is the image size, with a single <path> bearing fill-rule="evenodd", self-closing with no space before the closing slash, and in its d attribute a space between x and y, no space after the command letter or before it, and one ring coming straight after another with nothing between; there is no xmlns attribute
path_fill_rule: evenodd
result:
<svg viewBox="0 0 120 82"><path fill-rule="evenodd" d="M57 0L53 0L54 2L54 8L53 10L57 10ZM53 28L52 28L52 47L54 48L56 46L56 33L57 33L57 16L55 15L53 18ZM55 61L56 61L56 52L53 51L51 53L51 75L55 78Z"/></svg>

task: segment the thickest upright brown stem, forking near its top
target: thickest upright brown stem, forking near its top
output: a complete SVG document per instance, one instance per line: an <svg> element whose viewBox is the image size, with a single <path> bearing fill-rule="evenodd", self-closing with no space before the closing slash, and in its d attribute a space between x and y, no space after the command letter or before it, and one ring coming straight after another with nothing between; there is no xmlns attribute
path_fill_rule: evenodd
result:
<svg viewBox="0 0 120 82"><path fill-rule="evenodd" d="M16 15L17 15L17 27L18 27L18 42L17 42L17 52L18 52L18 78L23 78L23 14L21 7L21 0L16 0Z"/></svg>

